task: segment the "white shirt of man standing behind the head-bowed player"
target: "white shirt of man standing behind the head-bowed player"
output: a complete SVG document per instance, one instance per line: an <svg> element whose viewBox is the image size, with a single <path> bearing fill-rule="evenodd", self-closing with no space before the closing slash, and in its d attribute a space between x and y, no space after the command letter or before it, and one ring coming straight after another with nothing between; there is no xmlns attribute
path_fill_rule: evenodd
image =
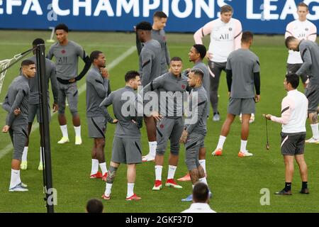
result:
<svg viewBox="0 0 319 227"><path fill-rule="evenodd" d="M286 27L285 38L293 36L299 40L311 40L315 42L317 38L317 28L310 21L292 21ZM288 64L302 64L301 54L298 51L289 50Z"/></svg>

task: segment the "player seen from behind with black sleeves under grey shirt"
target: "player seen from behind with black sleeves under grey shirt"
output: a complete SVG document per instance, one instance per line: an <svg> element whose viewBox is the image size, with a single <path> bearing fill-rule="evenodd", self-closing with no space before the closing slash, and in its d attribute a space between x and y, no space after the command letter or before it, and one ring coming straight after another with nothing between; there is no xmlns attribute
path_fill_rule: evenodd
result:
<svg viewBox="0 0 319 227"><path fill-rule="evenodd" d="M254 113L255 102L260 100L259 58L252 51L253 35L249 31L242 33L242 48L228 56L226 73L228 94L227 118L223 123L218 145L213 155L223 153L223 145L236 115L242 113L242 134L238 157L252 156L246 149L250 129L250 116ZM254 88L256 92L254 92Z"/></svg>

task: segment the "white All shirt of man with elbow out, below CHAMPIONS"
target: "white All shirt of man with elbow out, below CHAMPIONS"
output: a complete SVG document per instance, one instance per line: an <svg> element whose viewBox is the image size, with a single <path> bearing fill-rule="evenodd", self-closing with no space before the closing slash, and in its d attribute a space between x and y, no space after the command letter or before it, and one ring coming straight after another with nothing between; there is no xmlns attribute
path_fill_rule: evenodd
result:
<svg viewBox="0 0 319 227"><path fill-rule="evenodd" d="M240 48L242 24L235 18L224 23L220 18L206 23L194 34L196 44L203 44L202 38L211 34L208 54L213 62L227 62L230 52Z"/></svg>

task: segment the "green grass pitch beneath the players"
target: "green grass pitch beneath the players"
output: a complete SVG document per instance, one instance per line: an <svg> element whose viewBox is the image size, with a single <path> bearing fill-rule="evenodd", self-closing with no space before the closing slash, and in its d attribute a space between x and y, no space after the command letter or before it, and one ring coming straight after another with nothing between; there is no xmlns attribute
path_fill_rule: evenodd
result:
<svg viewBox="0 0 319 227"><path fill-rule="evenodd" d="M30 48L34 38L50 37L50 31L1 31L0 33L0 60L10 58L16 53ZM123 52L135 46L133 33L79 33L70 32L69 39L84 47L86 52L102 50L106 53L107 65ZM167 40L171 56L179 56L184 60L184 68L192 67L187 53L193 45L191 34L168 34ZM208 46L208 39L205 40ZM47 44L49 48L49 44ZM261 63L262 95L257 104L256 120L250 126L250 137L247 148L253 157L237 157L240 148L240 121L233 124L228 136L222 157L213 157L211 152L216 148L218 136L228 102L225 73L220 81L220 114L222 121L216 123L208 121L208 135L206 136L206 169L208 184L213 192L211 207L218 212L318 212L319 173L318 157L319 145L306 145L306 162L308 164L308 182L310 194L298 194L301 188L301 179L298 166L295 165L293 177L293 196L275 196L274 192L284 187L284 162L280 153L281 126L269 122L270 150L265 149L266 131L262 114L280 115L281 99L286 95L283 88L286 72L287 50L284 47L283 36L256 35L252 50L259 56ZM79 68L83 64L80 60ZM113 90L124 86L123 76L128 70L138 70L138 54L133 52L123 61L112 68L111 88ZM4 87L0 94L0 102L4 100L6 89L12 79L18 74L18 65L12 67L6 74ZM79 82L79 87L85 79ZM303 88L299 86L299 90ZM51 99L52 100L52 99ZM51 101L52 103L52 101ZM85 115L85 92L79 96L79 114L82 120L83 144L74 145L74 130L71 115L67 109L70 143L58 145L61 132L57 116L52 117L50 124L52 149L53 187L57 189L56 212L84 212L86 201L92 197L101 198L105 183L101 179L89 179L91 170L91 146L93 140L88 138ZM5 123L6 113L0 109L0 126ZM106 132L106 162L109 167L111 159L111 144L115 127L108 125ZM310 137L310 127L307 123L307 138ZM43 174L38 171L39 161L39 133L34 131L30 136L28 152L28 170L21 171L23 182L28 184L29 192L8 192L11 169L12 150L1 155L11 143L9 135L0 134L0 212L46 212L43 201ZM142 128L142 153L148 153L148 144L145 128ZM167 157L163 168L163 180L167 177ZM181 145L179 166L176 178L186 174L184 164L184 146ZM125 201L126 196L126 167L121 165L113 184L110 201L103 201L106 212L180 212L189 207L189 203L181 199L191 193L191 183L181 182L183 189L164 187L159 192L152 192L155 179L154 162L140 164L137 167L135 193L142 197L141 201ZM261 189L269 189L270 205L262 206L260 199Z"/></svg>

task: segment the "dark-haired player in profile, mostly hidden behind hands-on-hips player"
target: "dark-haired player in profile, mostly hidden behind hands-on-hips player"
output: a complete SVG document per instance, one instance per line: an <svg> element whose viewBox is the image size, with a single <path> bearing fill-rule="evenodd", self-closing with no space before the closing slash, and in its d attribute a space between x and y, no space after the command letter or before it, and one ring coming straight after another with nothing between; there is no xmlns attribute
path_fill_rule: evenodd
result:
<svg viewBox="0 0 319 227"><path fill-rule="evenodd" d="M138 39L140 42L145 43L140 52L140 75L143 87L161 75L161 45L157 40L152 39L151 30L151 24L145 21L138 23L136 26ZM152 116L145 116L144 121L150 152L142 157L142 161L154 161L157 146L156 121Z"/></svg>

